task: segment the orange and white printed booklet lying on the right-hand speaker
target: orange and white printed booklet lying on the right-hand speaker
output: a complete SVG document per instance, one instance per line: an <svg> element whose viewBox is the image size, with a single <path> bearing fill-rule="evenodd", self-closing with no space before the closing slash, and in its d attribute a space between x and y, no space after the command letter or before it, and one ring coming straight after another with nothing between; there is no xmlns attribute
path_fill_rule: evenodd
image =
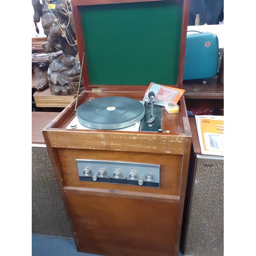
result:
<svg viewBox="0 0 256 256"><path fill-rule="evenodd" d="M201 153L224 156L224 116L195 116Z"/></svg>

